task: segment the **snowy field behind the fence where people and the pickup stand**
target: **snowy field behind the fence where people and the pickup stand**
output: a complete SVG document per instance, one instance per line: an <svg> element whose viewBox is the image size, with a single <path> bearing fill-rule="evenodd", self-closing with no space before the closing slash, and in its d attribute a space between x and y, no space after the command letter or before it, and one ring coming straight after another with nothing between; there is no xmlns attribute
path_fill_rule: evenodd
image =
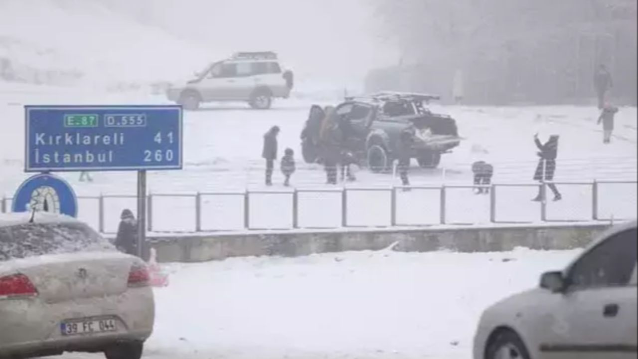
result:
<svg viewBox="0 0 638 359"><path fill-rule="evenodd" d="M337 99L335 99L335 102ZM24 114L22 105L42 103L165 103L161 96L140 92L103 93L90 89L59 89L38 86L0 85L0 196L9 199L28 174L22 172ZM244 225L244 198L241 192L285 192L281 185L264 188L261 160L262 135L272 125L282 129L279 146L297 153L299 170L293 185L302 190L327 190L325 174L317 165L301 163L299 134L311 100L281 100L271 111L253 111L245 103L209 105L197 112L186 112L182 171L151 172L152 194L189 194L182 197L154 197L153 230L189 232L195 230L195 193L202 195L203 230L241 230ZM327 103L322 100L322 103ZM588 220L592 213L591 185L598 181L635 181L636 118L635 107L623 107L617 115L613 142L602 144L600 126L595 124L598 110L593 107L440 107L457 119L461 146L443 156L440 168L413 167L413 185L470 185L470 164L487 160L494 164L495 183L526 186L499 187L496 213L499 221L537 222L540 204L531 202L537 187L531 176L537 164L533 134L542 139L560 134L556 181L561 184L563 201L547 204L552 220ZM348 187L375 187L374 191L348 193L348 224L383 226L390 222L390 186L397 184L388 174L360 171L359 181ZM97 195L134 195L133 172L95 173L93 183L79 183L77 174L63 174L82 197L80 218L97 227ZM276 183L281 183L278 171ZM288 190L289 191L289 190ZM234 192L236 195L215 195ZM635 183L604 183L599 187L600 218L632 218L636 215ZM448 223L489 222L489 196L471 194L470 188L448 188ZM10 200L7 201L10 204ZM440 192L437 189L413 190L397 195L397 223L436 224L440 218ZM117 226L122 208L135 209L135 199L105 199L105 231ZM175 209L179 208L175 216ZM272 211L278 208L278 211ZM322 216L316 213L323 213ZM290 228L292 194L253 194L250 199L251 228ZM341 197L336 192L304 192L299 197L299 225L336 227L341 224Z"/></svg>

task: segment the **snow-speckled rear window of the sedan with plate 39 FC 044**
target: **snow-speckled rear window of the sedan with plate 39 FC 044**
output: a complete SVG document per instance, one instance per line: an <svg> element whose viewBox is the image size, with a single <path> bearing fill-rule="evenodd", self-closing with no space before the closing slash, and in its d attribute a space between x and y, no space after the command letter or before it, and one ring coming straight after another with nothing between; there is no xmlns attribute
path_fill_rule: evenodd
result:
<svg viewBox="0 0 638 359"><path fill-rule="evenodd" d="M74 252L112 252L115 247L82 223L0 227L0 261Z"/></svg>

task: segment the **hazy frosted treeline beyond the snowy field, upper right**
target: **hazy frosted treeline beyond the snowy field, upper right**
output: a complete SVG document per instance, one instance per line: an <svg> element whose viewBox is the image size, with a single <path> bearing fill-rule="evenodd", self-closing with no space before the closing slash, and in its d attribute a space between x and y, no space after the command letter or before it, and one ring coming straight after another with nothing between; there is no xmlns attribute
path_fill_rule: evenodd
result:
<svg viewBox="0 0 638 359"><path fill-rule="evenodd" d="M611 97L637 101L635 0L376 0L380 29L403 52L367 91L396 89L475 104L587 103L609 68ZM457 85L458 86L458 85Z"/></svg>

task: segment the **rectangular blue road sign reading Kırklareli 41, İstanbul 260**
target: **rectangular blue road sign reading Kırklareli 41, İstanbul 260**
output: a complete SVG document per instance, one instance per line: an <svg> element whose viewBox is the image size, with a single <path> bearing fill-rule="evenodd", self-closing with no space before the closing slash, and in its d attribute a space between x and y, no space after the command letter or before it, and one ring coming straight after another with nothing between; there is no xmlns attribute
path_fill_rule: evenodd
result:
<svg viewBox="0 0 638 359"><path fill-rule="evenodd" d="M182 107L25 106L25 171L182 168Z"/></svg>

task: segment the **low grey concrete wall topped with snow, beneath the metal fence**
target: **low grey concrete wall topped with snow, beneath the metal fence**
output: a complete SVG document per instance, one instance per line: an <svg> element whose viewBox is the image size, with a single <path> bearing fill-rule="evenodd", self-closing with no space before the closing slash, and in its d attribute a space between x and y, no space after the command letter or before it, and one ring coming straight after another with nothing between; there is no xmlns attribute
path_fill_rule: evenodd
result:
<svg viewBox="0 0 638 359"><path fill-rule="evenodd" d="M260 233L152 236L158 261L204 262L242 256L307 256L349 250L380 250L390 245L401 252L452 250L494 252L516 247L570 249L585 247L609 224L428 227L355 231L281 231Z"/></svg>

